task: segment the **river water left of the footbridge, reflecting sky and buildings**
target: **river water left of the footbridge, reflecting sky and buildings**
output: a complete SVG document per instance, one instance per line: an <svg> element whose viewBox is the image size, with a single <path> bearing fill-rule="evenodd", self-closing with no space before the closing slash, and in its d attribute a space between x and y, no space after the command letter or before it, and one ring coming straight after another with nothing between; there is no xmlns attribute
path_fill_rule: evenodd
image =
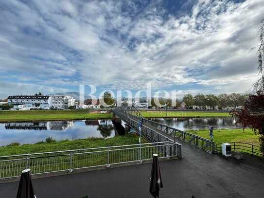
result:
<svg viewBox="0 0 264 198"><path fill-rule="evenodd" d="M124 124L124 123L122 123ZM121 124L120 124L121 125ZM14 122L0 124L0 146L12 142L33 144L47 137L76 140L88 137L111 138L123 134L111 120Z"/></svg>

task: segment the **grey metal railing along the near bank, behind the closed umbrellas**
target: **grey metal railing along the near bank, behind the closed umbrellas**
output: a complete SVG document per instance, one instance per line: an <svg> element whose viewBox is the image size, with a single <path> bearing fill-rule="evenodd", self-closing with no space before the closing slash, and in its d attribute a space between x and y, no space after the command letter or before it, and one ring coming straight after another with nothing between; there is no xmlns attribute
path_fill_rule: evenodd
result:
<svg viewBox="0 0 264 198"><path fill-rule="evenodd" d="M159 142L3 156L0 157L0 179L18 177L26 168L30 168L32 174L71 172L82 168L151 160L153 153L158 153L159 158L178 157L178 149L175 143Z"/></svg>

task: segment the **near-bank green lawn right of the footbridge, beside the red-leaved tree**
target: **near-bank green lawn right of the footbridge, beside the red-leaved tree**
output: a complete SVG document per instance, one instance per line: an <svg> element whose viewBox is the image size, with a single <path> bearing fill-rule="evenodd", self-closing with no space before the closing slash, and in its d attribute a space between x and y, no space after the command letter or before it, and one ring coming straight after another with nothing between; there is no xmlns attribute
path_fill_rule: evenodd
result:
<svg viewBox="0 0 264 198"><path fill-rule="evenodd" d="M198 135L210 140L209 130L189 130L186 131L194 135ZM245 142L248 144L260 145L259 136L255 135L251 129L214 129L215 144L229 143L229 142Z"/></svg>

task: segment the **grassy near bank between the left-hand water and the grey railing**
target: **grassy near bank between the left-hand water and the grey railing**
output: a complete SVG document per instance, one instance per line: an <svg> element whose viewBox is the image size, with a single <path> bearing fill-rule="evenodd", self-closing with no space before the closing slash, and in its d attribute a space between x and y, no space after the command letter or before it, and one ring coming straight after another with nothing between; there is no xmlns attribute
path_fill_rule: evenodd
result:
<svg viewBox="0 0 264 198"><path fill-rule="evenodd" d="M143 138L141 143L147 143ZM97 148L106 146L118 146L139 144L139 137L136 134L129 133L124 136L115 136L113 138L87 138L79 140L48 140L47 142L39 142L35 144L23 144L18 145L12 143L6 146L0 146L0 156L40 153L40 152L52 152L61 150L73 150L82 148Z"/></svg>

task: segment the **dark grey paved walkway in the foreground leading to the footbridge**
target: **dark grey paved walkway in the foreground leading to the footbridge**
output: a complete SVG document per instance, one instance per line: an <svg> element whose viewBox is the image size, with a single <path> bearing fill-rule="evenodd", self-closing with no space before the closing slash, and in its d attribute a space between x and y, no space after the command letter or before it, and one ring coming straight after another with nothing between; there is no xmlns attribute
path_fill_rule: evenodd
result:
<svg viewBox="0 0 264 198"><path fill-rule="evenodd" d="M183 159L160 162L160 198L263 198L264 162L237 162L183 144ZM151 198L151 164L33 180L37 198ZM18 182L0 184L0 198L15 198Z"/></svg>

